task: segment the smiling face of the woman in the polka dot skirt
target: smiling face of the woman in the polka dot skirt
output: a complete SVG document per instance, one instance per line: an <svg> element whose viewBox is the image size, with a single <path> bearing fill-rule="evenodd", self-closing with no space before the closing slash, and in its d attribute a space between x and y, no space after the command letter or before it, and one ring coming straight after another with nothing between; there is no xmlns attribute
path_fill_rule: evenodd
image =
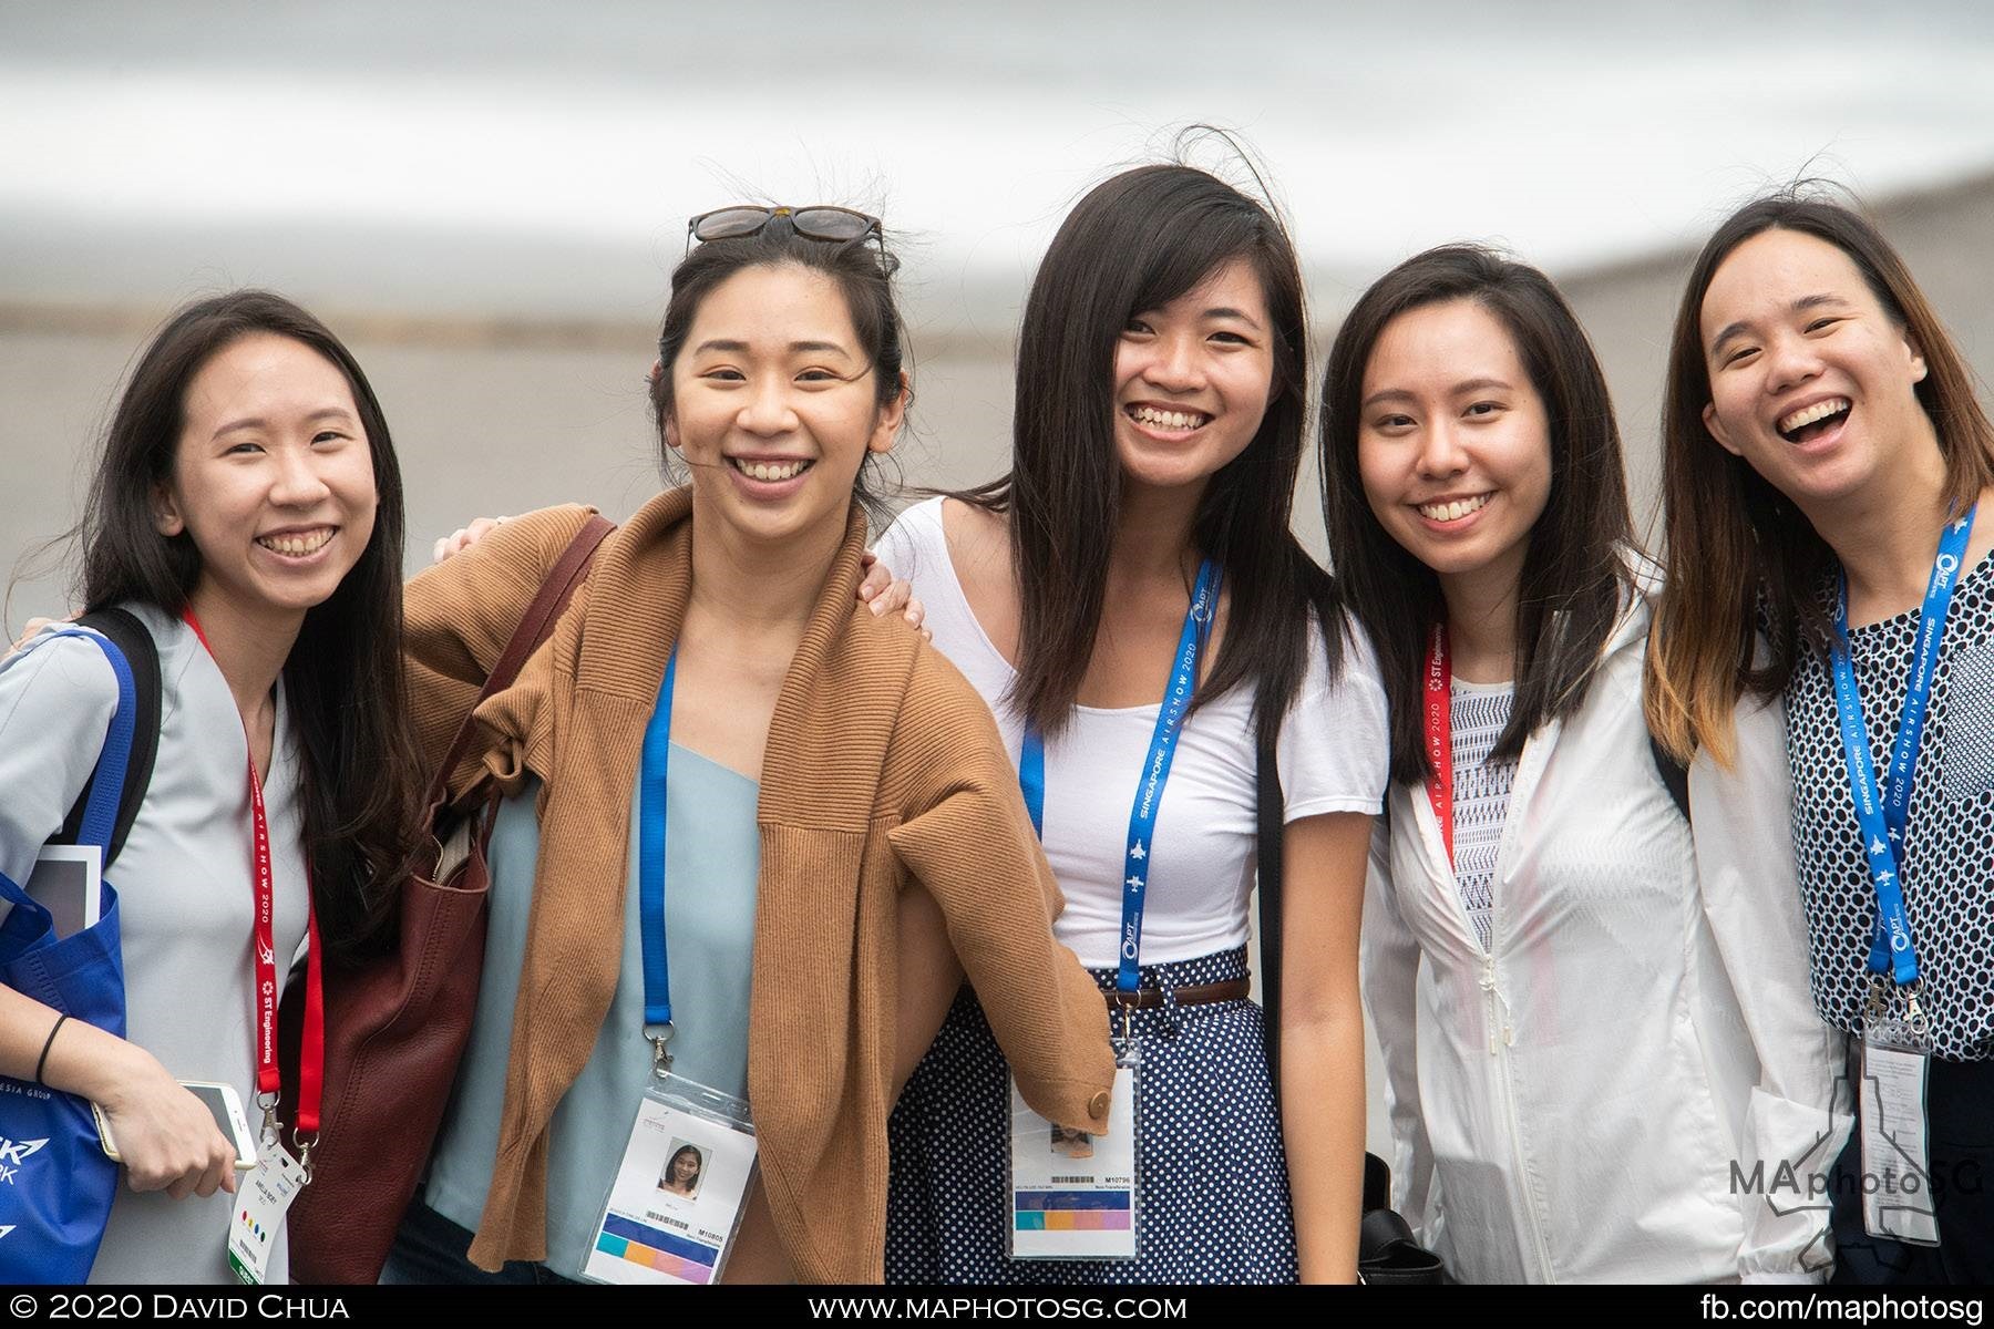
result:
<svg viewBox="0 0 1994 1329"><path fill-rule="evenodd" d="M1260 432L1272 383L1266 293L1244 259L1212 269L1163 309L1135 313L1115 343L1115 452L1125 478L1202 484Z"/></svg>

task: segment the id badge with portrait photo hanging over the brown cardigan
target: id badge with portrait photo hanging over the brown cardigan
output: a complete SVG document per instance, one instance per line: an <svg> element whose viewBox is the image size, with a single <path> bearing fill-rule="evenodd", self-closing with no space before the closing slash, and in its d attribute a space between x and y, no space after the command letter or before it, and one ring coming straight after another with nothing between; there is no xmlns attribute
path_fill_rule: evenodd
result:
<svg viewBox="0 0 1994 1329"><path fill-rule="evenodd" d="M684 1076L652 1076L582 1277L720 1281L754 1176L748 1104Z"/></svg>

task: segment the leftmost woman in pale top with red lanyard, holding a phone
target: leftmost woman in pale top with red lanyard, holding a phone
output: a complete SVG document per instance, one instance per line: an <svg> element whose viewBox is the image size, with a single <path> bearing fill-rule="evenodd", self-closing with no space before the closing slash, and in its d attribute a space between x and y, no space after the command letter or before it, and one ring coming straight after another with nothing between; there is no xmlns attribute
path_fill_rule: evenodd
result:
<svg viewBox="0 0 1994 1329"><path fill-rule="evenodd" d="M285 1078L283 966L307 932L313 976L321 946L365 948L395 901L415 845L401 534L387 420L325 325L237 291L154 337L80 528L86 610L128 612L160 658L152 779L106 865L126 1038L0 988L0 1072L98 1104L124 1160L94 1281L235 1281L235 1152L175 1080L235 1086L253 1128ZM28 881L64 827L118 693L64 626L0 662L0 873ZM279 1231L263 1275L285 1269Z"/></svg>

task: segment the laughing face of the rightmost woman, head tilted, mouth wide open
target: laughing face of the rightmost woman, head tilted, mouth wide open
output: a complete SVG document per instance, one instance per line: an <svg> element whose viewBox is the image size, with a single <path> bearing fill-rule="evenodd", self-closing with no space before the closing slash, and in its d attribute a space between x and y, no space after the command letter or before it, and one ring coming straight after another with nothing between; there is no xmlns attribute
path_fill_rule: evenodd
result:
<svg viewBox="0 0 1994 1329"><path fill-rule="evenodd" d="M1836 245L1771 229L1717 267L1699 317L1703 424L1803 508L1886 484L1930 444L1924 357Z"/></svg>

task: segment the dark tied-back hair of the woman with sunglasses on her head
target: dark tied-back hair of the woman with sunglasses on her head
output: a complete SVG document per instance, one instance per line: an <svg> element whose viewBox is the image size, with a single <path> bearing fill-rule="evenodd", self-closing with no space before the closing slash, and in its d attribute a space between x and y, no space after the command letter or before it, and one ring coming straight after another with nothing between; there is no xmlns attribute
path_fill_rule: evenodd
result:
<svg viewBox="0 0 1994 1329"><path fill-rule="evenodd" d="M830 277L845 297L851 331L859 351L873 369L873 404L887 406L899 393L907 363L907 333L893 299L893 273L899 261L885 247L879 231L845 241L798 235L786 215L768 219L754 235L710 239L692 247L672 269L672 299L664 307L664 327L658 331L658 371L650 381L652 422L658 428L658 450L670 468L672 450L664 446L664 422L672 416L672 361L686 347L692 321L714 287L750 267L802 267ZM911 404L913 393L907 393ZM891 512L867 476L877 468L879 454L867 452L851 484L851 498L865 508L875 528L891 522Z"/></svg>

